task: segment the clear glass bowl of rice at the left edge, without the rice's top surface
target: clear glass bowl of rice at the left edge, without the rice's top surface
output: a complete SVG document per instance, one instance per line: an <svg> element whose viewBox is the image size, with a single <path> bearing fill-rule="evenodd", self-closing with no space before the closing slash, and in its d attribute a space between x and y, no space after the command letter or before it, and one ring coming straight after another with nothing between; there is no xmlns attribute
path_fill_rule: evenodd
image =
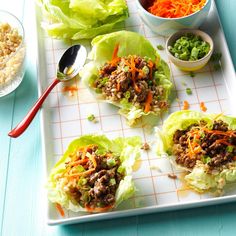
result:
<svg viewBox="0 0 236 236"><path fill-rule="evenodd" d="M15 52L0 58L0 97L14 91L22 82L25 72L25 33L20 20L13 14L0 10L0 24L9 24L22 37ZM0 55L1 56L1 55Z"/></svg>

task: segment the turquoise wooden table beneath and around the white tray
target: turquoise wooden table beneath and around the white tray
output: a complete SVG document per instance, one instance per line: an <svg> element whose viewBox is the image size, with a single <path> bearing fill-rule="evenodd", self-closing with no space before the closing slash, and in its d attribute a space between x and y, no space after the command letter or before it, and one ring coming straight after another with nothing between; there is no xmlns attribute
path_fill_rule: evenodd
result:
<svg viewBox="0 0 236 236"><path fill-rule="evenodd" d="M32 0L0 0L0 8L23 21L28 47L22 84L0 99L0 236L235 235L236 203L70 226L46 224L39 116L20 138L7 136L37 98L33 4ZM216 4L236 66L236 1L216 0Z"/></svg>

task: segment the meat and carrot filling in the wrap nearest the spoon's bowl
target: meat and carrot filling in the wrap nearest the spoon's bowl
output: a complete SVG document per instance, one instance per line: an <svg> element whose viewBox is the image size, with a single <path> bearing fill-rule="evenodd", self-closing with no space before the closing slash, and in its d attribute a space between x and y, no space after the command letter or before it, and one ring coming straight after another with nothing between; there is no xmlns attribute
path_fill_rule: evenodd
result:
<svg viewBox="0 0 236 236"><path fill-rule="evenodd" d="M158 70L150 59L139 56L120 57L116 63L111 61L101 67L99 78L93 86L108 100L120 102L127 99L143 110L151 94L148 111L165 110L169 104L163 86L155 78Z"/></svg>

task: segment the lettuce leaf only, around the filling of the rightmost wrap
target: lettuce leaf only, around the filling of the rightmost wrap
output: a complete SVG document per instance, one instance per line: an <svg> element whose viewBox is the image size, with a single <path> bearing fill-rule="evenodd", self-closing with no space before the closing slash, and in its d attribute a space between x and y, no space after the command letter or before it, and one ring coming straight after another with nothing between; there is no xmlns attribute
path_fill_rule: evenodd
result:
<svg viewBox="0 0 236 236"><path fill-rule="evenodd" d="M169 154L171 160L175 158L171 156L173 146L173 135L176 130L185 130L192 124L197 124L204 120L209 128L213 126L215 120L220 119L229 125L230 129L236 129L236 118L224 116L222 114L206 114L197 111L177 111L172 113L164 122L162 130L157 130L157 154ZM175 165L177 165L174 162ZM178 166L178 165L177 165ZM186 168L178 166L186 171ZM189 174L185 176L187 184L198 192L205 192L208 190L222 190L227 182L236 181L236 162L232 162L230 167L215 169L209 172L209 166L202 161L197 161Z"/></svg>

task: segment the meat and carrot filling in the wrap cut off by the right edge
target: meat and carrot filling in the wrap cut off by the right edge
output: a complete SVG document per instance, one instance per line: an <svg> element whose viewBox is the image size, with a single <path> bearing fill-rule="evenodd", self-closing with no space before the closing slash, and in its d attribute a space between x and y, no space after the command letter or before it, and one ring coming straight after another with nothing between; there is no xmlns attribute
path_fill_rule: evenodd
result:
<svg viewBox="0 0 236 236"><path fill-rule="evenodd" d="M211 129L202 121L186 130L177 130L173 142L176 163L190 169L197 160L210 168L236 160L236 130L230 130L222 120L214 121Z"/></svg>

